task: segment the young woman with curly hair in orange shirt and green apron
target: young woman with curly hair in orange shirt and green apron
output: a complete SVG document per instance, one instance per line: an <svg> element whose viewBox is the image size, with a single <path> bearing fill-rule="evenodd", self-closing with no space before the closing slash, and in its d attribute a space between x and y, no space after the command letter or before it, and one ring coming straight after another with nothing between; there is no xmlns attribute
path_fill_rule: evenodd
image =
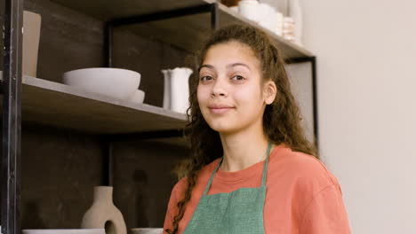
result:
<svg viewBox="0 0 416 234"><path fill-rule="evenodd" d="M300 127L268 36L224 27L196 66L186 130L192 157L178 171L164 233L350 233L340 184Z"/></svg>

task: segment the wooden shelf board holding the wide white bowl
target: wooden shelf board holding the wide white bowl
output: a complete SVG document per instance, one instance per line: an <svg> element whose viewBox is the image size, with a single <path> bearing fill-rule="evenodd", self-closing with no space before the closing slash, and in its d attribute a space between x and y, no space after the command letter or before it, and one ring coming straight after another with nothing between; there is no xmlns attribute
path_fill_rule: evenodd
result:
<svg viewBox="0 0 416 234"><path fill-rule="evenodd" d="M26 75L22 80L21 114L22 121L92 134L182 129L187 123L186 115L182 113L109 98Z"/></svg>

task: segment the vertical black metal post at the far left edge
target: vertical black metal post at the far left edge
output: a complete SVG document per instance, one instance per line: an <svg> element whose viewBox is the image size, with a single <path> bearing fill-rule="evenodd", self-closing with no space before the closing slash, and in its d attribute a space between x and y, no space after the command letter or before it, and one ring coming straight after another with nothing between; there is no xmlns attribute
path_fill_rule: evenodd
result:
<svg viewBox="0 0 416 234"><path fill-rule="evenodd" d="M23 0L4 0L2 232L20 233Z"/></svg>

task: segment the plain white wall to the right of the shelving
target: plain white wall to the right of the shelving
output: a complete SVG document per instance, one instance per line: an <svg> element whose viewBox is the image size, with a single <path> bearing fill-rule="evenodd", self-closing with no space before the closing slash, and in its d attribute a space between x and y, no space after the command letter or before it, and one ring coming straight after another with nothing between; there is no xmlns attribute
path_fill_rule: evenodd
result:
<svg viewBox="0 0 416 234"><path fill-rule="evenodd" d="M353 233L416 233L416 1L300 2L321 154Z"/></svg>

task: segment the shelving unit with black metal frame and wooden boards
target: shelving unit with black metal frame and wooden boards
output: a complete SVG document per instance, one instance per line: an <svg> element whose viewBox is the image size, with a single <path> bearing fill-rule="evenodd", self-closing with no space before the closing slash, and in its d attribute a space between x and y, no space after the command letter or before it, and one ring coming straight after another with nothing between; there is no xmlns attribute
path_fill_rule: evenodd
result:
<svg viewBox="0 0 416 234"><path fill-rule="evenodd" d="M244 19L213 0L52 0L107 23L106 57L112 58L112 30L123 27L137 35L153 37L186 51L195 51L213 28L229 24L258 24ZM186 145L181 131L186 116L163 108L134 104L85 92L68 85L21 75L21 30L23 0L5 0L3 111L2 232L20 233L20 126L21 121L76 129L104 136L112 141L132 137L156 137L171 144ZM186 26L186 27L184 27ZM300 46L272 32L268 35L282 51L288 63L310 62L314 93L314 129L316 116L316 58ZM17 78L16 78L17 77ZM19 77L22 77L19 79ZM16 79L14 79L16 78ZM316 142L317 144L317 142ZM112 153L105 158L108 168ZM111 171L108 171L111 183Z"/></svg>

